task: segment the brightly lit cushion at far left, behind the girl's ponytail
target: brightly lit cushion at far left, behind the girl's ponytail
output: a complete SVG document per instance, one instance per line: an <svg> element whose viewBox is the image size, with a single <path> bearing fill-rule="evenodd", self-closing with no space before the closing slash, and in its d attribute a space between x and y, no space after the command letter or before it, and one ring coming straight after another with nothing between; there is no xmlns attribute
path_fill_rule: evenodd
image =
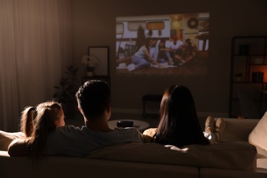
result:
<svg viewBox="0 0 267 178"><path fill-rule="evenodd" d="M0 150L7 151L10 142L15 140L16 138L22 138L22 137L25 137L25 134L23 132L10 133L0 130Z"/></svg>

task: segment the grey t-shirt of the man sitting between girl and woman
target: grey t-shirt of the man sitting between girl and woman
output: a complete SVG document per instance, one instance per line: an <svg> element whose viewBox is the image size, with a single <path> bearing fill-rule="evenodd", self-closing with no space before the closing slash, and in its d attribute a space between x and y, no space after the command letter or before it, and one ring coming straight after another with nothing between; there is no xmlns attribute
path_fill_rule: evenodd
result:
<svg viewBox="0 0 267 178"><path fill-rule="evenodd" d="M142 133L136 128L101 132L92 131L86 126L66 125L49 132L45 153L83 157L94 149L127 142L143 142Z"/></svg>

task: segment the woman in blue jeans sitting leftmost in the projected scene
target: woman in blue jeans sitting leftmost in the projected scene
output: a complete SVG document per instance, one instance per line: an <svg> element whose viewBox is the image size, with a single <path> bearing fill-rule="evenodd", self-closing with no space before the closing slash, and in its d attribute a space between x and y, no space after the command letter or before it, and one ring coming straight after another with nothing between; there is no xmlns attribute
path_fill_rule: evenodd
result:
<svg viewBox="0 0 267 178"><path fill-rule="evenodd" d="M153 44L154 40L152 38L147 38L147 42L142 45L132 56L132 64L129 64L129 66L127 66L129 71L133 71L140 68L149 68L151 64L160 66L157 60L155 60L149 52L149 47L153 47Z"/></svg>

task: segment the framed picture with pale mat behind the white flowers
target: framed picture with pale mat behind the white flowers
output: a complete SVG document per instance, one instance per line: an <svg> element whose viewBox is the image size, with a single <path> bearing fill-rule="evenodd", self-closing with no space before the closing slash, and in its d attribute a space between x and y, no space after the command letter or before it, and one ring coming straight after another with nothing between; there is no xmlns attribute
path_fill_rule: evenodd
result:
<svg viewBox="0 0 267 178"><path fill-rule="evenodd" d="M94 68L94 75L97 76L110 75L109 53L110 49L107 46L88 47L88 55L93 56L98 61L97 66Z"/></svg>

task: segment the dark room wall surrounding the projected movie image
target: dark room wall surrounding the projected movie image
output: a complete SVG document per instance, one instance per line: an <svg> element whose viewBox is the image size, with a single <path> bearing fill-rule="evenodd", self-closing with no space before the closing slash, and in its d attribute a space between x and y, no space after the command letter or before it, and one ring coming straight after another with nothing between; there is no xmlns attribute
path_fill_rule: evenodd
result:
<svg viewBox="0 0 267 178"><path fill-rule="evenodd" d="M267 35L267 1L72 1L73 60L80 65L88 46L110 47L112 106L142 112L142 95L164 92L171 84L190 88L203 115L227 116L231 38ZM209 59L205 77L121 77L116 75L116 16L209 12ZM82 75L82 73L81 73Z"/></svg>

